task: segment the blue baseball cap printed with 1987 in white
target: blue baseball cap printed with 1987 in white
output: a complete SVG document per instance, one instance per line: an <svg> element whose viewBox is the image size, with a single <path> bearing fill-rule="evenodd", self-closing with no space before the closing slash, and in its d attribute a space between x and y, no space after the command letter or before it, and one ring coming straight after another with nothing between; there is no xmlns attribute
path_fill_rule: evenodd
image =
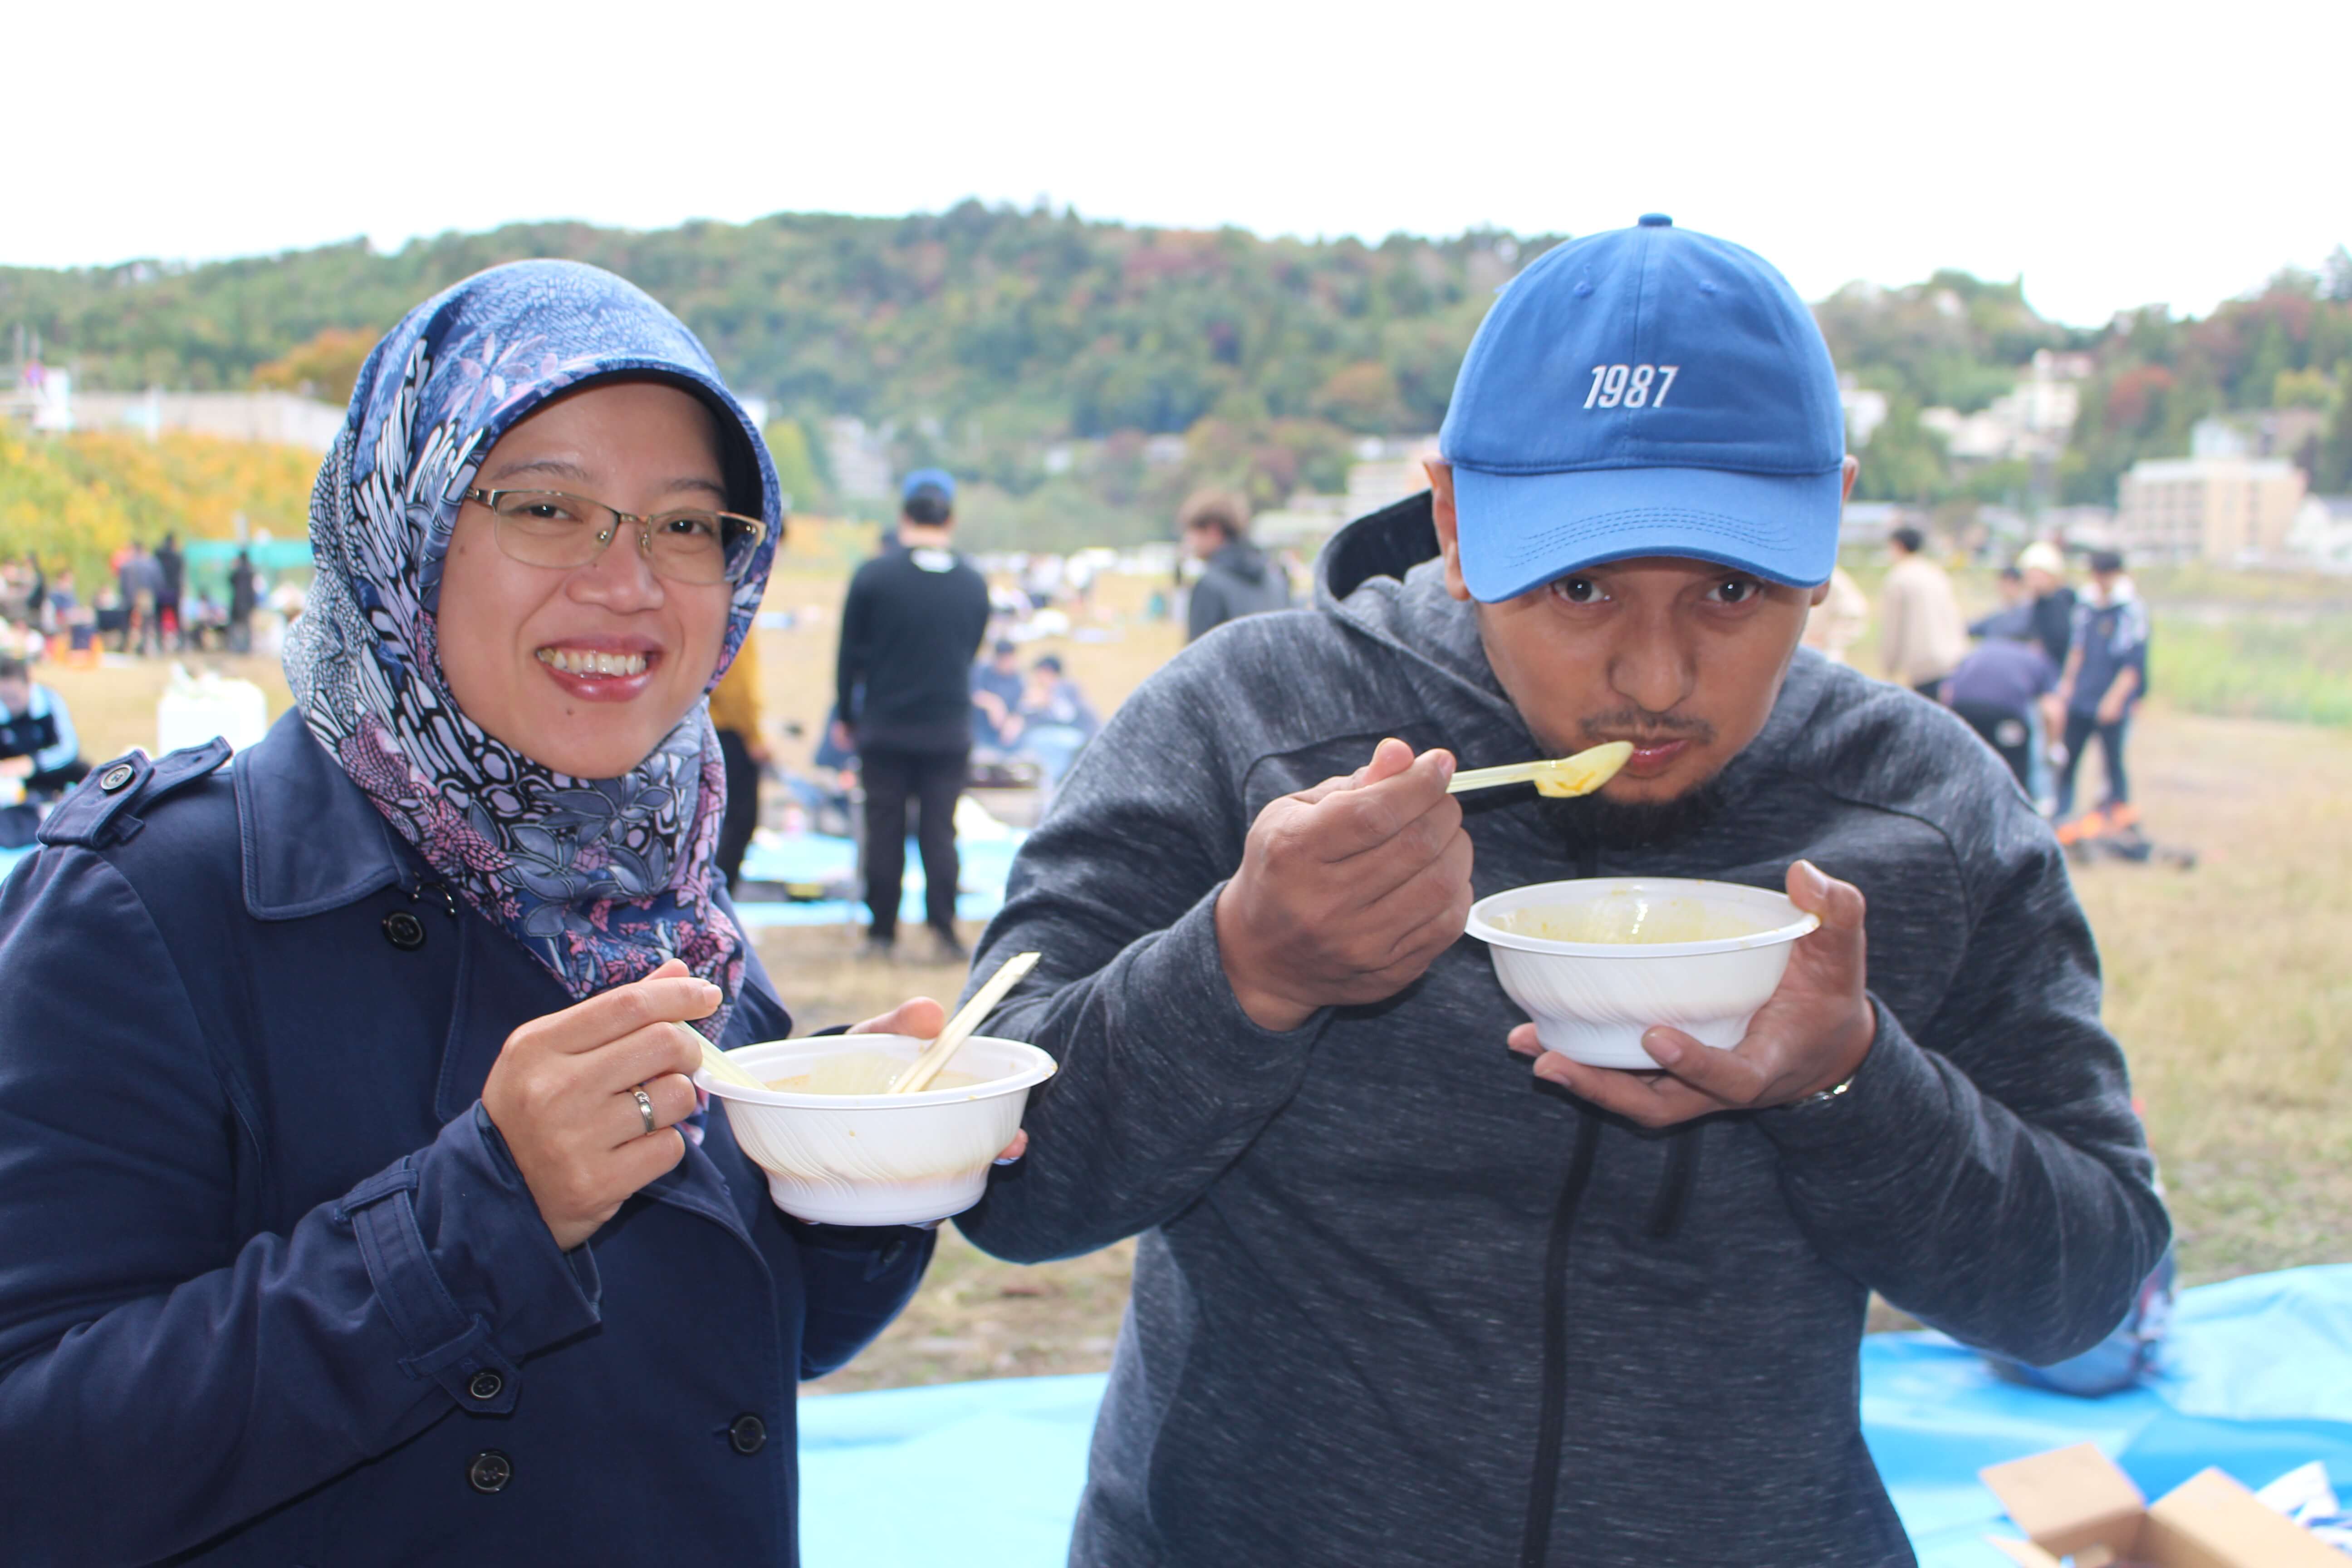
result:
<svg viewBox="0 0 2352 1568"><path fill-rule="evenodd" d="M1503 289L1437 451L1489 604L1635 555L1799 588L1837 567L1846 416L1813 313L1755 252L1658 212Z"/></svg>

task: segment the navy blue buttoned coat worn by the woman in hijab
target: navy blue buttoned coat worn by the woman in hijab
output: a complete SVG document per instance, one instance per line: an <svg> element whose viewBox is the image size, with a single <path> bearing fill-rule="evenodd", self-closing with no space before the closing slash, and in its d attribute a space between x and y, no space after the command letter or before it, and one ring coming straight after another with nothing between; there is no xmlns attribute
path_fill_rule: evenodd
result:
<svg viewBox="0 0 2352 1568"><path fill-rule="evenodd" d="M795 1387L929 1237L788 1220L713 1110L560 1253L477 1095L572 999L299 717L226 755L0 889L0 1559L790 1563ZM753 959L724 1044L788 1027Z"/></svg>

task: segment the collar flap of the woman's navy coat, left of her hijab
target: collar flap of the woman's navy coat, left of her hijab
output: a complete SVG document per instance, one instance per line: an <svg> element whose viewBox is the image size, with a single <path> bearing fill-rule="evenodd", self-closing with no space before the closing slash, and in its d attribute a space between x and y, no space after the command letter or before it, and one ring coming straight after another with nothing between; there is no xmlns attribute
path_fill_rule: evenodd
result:
<svg viewBox="0 0 2352 1568"><path fill-rule="evenodd" d="M301 919L407 877L390 825L318 743L301 710L238 752L238 835L245 842L245 912Z"/></svg>

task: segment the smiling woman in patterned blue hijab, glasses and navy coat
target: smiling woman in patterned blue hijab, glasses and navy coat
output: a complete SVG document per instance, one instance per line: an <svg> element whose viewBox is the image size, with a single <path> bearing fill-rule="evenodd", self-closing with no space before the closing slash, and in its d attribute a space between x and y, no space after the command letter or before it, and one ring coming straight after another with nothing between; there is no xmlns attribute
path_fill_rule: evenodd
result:
<svg viewBox="0 0 2352 1568"><path fill-rule="evenodd" d="M788 1563L795 1385L931 1237L786 1218L684 1077L790 1032L703 712L767 454L668 310L515 263L310 505L294 712L99 769L0 891L0 1556Z"/></svg>

